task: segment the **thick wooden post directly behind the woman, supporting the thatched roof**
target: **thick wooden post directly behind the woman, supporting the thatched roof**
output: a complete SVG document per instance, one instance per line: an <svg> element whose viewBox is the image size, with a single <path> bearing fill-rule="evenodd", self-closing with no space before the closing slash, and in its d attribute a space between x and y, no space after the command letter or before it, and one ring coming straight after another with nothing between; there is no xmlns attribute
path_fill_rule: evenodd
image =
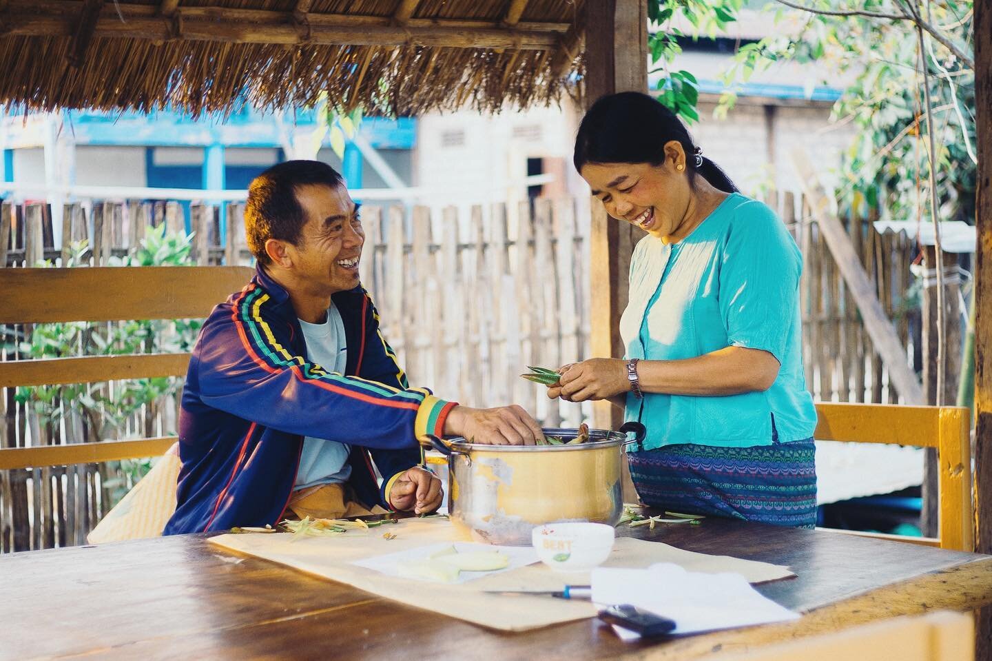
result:
<svg viewBox="0 0 992 661"><path fill-rule="evenodd" d="M648 6L645 0L585 3L585 107L605 94L648 89ZM590 296L593 357L621 357L620 315L627 306L627 273L634 245L644 233L607 216L591 200ZM593 406L594 426L616 429L623 412L609 402Z"/></svg>

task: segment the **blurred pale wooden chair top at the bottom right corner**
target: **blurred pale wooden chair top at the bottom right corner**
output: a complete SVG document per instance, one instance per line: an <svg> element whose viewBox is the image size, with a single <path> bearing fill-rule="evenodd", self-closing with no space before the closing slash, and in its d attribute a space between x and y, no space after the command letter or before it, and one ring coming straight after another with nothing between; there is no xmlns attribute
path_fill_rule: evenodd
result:
<svg viewBox="0 0 992 661"><path fill-rule="evenodd" d="M726 661L973 661L974 620L970 613L949 611L897 617L719 658Z"/></svg>

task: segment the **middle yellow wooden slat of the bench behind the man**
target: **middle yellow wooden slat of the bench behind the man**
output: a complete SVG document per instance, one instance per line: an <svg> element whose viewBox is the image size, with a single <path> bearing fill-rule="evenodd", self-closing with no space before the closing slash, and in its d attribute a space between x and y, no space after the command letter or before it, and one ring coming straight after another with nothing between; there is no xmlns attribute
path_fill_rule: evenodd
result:
<svg viewBox="0 0 992 661"><path fill-rule="evenodd" d="M184 376L188 365L188 353L0 361L0 388Z"/></svg>

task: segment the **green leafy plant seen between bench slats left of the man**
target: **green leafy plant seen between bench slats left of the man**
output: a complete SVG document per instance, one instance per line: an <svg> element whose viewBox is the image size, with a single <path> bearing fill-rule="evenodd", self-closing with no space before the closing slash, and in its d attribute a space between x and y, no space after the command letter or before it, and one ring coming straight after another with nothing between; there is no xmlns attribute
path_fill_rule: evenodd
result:
<svg viewBox="0 0 992 661"><path fill-rule="evenodd" d="M192 235L167 233L165 226L149 227L133 255L114 257L112 266L183 266L189 264ZM85 241L72 245L65 266L84 260ZM39 267L53 267L41 262ZM121 273L122 277L127 277ZM38 324L31 335L18 343L25 358L56 358L72 355L119 355L188 351L195 342L202 322L199 320L126 321L118 324ZM74 383L20 387L15 397L39 416L42 424L72 429L70 418L78 413L89 428L91 440L113 438L125 431L144 407L174 396L181 379L157 377L129 379L110 383ZM76 431L78 431L76 429ZM167 430L171 431L171 430ZM71 434L71 432L68 432ZM72 439L78 443L82 439ZM111 490L112 504L151 468L149 460L109 463L117 477L104 486Z"/></svg>

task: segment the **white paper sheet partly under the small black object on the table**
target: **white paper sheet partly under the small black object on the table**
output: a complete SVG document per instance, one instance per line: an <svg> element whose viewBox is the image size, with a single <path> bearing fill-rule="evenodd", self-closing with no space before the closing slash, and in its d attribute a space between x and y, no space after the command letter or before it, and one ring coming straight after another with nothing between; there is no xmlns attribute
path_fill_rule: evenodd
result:
<svg viewBox="0 0 992 661"><path fill-rule="evenodd" d="M646 570L594 569L592 600L603 605L632 603L674 619L677 626L672 633L698 633L800 617L758 593L739 574L697 574L672 564L652 565Z"/></svg>

